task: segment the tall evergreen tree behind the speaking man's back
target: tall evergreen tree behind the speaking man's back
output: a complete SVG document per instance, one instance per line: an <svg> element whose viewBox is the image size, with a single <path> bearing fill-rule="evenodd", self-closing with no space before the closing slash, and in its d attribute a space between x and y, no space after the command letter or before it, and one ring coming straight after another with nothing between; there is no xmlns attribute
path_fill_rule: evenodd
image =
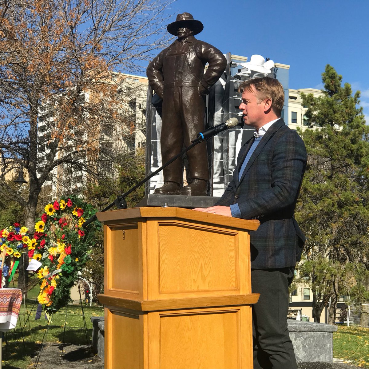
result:
<svg viewBox="0 0 369 369"><path fill-rule="evenodd" d="M301 94L309 128L301 133L308 164L296 218L307 236L300 276L310 277L313 317L330 304L333 324L341 294L365 299L369 226L369 126L360 92L327 65L324 96Z"/></svg>

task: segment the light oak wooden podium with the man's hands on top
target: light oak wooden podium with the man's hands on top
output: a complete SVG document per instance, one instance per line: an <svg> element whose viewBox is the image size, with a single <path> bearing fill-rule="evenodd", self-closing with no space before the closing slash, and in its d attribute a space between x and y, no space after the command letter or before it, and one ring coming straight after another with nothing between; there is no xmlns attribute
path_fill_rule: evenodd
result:
<svg viewBox="0 0 369 369"><path fill-rule="evenodd" d="M106 369L250 369L249 230L259 222L175 207L104 221Z"/></svg>

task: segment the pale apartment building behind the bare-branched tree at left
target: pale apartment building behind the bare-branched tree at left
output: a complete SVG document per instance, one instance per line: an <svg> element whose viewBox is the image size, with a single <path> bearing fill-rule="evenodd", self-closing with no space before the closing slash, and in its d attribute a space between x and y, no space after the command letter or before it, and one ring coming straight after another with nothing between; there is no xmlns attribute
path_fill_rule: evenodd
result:
<svg viewBox="0 0 369 369"><path fill-rule="evenodd" d="M129 75L124 73L113 73L110 79L103 82L107 85L114 85L116 89L115 101L112 106L107 101L107 107L102 108L99 124L88 132L75 127L69 137L65 137L59 144L57 157L62 158L69 152L73 152L73 158L69 161L55 166L51 171L49 180L45 182L45 187L54 196L59 197L63 193L78 192L91 182L91 177L83 168L96 166L95 172L100 176L114 177L117 175L115 159L119 155L134 152L137 149L144 149L146 146L146 95L148 80L146 77ZM91 90L83 91L80 94L81 106L94 104L96 92ZM46 102L38 114L38 158L41 163L39 174L42 172L42 163L46 163L48 155L51 155L48 140L51 139L51 127L56 125L58 117L55 117L55 110L49 108ZM87 112L83 113L83 119L89 121ZM96 120L96 119L95 119ZM78 141L88 142L93 149L88 155L79 155ZM45 144L43 144L45 143ZM83 165L82 165L83 163ZM81 164L81 165L80 165Z"/></svg>

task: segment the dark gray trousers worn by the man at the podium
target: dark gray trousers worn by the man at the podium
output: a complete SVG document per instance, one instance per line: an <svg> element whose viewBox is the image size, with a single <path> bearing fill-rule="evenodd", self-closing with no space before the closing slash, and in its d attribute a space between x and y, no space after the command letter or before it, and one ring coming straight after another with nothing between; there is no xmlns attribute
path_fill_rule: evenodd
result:
<svg viewBox="0 0 369 369"><path fill-rule="evenodd" d="M251 269L251 289L260 293L252 305L254 369L296 369L287 328L288 287L294 268Z"/></svg>

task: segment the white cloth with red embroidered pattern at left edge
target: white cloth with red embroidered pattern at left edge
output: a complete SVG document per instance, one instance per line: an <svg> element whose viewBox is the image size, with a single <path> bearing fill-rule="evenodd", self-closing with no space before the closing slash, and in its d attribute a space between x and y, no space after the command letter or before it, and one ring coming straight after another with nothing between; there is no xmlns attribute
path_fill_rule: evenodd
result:
<svg viewBox="0 0 369 369"><path fill-rule="evenodd" d="M0 288L0 331L5 332L15 328L21 303L20 289Z"/></svg>

